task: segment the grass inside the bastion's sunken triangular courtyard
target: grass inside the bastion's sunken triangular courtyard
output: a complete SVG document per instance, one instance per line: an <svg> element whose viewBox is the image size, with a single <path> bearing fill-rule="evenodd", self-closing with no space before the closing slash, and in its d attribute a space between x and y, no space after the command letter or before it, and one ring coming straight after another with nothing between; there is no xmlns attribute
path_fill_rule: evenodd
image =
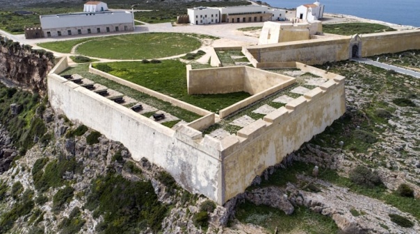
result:
<svg viewBox="0 0 420 234"><path fill-rule="evenodd" d="M218 110L250 97L250 94L246 92L189 95L186 85L185 64L178 60L163 60L156 64L110 62L106 65L112 68L109 73L114 76L212 112L218 112Z"/></svg>

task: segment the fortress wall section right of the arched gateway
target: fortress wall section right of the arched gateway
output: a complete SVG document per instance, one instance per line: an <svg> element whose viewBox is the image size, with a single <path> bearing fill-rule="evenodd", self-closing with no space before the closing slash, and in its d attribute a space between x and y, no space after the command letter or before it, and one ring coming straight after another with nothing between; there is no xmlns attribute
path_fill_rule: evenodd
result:
<svg viewBox="0 0 420 234"><path fill-rule="evenodd" d="M398 53L420 49L420 30L370 33L362 35L362 56Z"/></svg>

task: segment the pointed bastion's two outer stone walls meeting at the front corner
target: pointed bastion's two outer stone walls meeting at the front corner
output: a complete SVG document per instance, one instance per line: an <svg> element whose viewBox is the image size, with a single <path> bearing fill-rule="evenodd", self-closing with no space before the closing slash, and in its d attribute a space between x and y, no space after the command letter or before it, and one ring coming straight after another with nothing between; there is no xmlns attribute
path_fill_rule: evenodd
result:
<svg viewBox="0 0 420 234"><path fill-rule="evenodd" d="M63 58L56 72L66 62ZM213 113L172 130L57 74L49 74L47 84L51 107L58 114L122 142L134 160L147 158L186 190L204 194L219 204L245 191L255 176L321 133L346 110L344 78L335 75L236 135L218 140L198 131L216 121Z"/></svg>

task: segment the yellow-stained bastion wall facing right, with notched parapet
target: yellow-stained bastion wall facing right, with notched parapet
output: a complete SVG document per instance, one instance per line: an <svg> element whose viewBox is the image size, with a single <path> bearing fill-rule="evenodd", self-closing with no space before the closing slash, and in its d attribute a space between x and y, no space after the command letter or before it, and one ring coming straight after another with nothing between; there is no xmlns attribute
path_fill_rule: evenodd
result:
<svg viewBox="0 0 420 234"><path fill-rule="evenodd" d="M222 144L225 201L248 187L264 169L282 162L346 111L344 78L326 82L242 128ZM236 139L235 139L236 138Z"/></svg>

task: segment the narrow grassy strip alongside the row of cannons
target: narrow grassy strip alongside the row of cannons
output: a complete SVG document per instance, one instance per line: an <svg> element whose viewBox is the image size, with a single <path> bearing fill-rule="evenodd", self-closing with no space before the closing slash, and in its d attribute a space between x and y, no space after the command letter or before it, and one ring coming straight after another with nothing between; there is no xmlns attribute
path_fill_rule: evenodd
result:
<svg viewBox="0 0 420 234"><path fill-rule="evenodd" d="M79 65L77 67L70 67L69 69L65 70L63 74L80 74L81 76L90 79L95 83L100 83L109 87L115 91L121 92L126 94L129 97L132 97L142 103L147 105L153 106L154 108L158 108L159 110L165 110L165 112L169 112L171 115L178 117L179 119L184 119L186 122L192 122L195 119L200 118L200 115L197 115L193 112L188 110L184 110L183 108L179 108L177 106L173 106L171 103L161 101L160 99L156 99L155 97L151 97L147 94L142 92L138 92L137 90L133 90L130 87L125 85L120 85L115 83L114 81L110 81L107 78L103 78L101 76L91 74L88 72L88 65Z"/></svg>

